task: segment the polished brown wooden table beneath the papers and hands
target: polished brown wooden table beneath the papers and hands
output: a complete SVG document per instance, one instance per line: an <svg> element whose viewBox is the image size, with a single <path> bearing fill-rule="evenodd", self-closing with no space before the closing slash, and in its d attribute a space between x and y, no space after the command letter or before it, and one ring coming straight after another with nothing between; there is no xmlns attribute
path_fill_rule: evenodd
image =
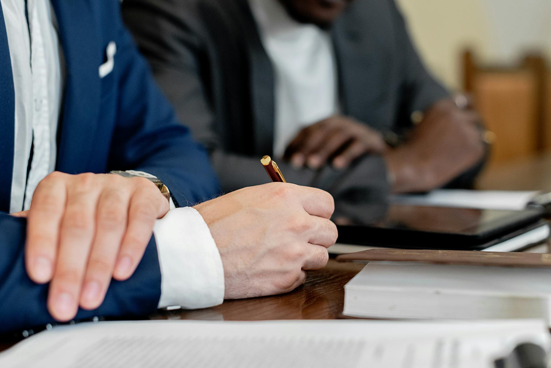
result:
<svg viewBox="0 0 551 368"><path fill-rule="evenodd" d="M484 172L480 189L551 190L551 154ZM531 251L548 252L547 246ZM230 300L217 307L185 311L160 312L150 318L171 320L331 320L340 318L344 304L344 284L363 264L339 263L330 259L321 270L310 272L306 283L290 293ZM13 343L0 344L0 351Z"/></svg>

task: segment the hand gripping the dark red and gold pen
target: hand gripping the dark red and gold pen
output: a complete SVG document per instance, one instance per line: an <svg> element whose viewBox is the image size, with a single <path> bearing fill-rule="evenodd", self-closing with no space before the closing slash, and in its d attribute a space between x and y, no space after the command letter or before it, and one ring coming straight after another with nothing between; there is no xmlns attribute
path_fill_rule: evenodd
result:
<svg viewBox="0 0 551 368"><path fill-rule="evenodd" d="M316 188L269 183L204 202L206 221L222 256L225 299L287 293L306 270L325 267L337 240L329 220L331 195Z"/></svg>

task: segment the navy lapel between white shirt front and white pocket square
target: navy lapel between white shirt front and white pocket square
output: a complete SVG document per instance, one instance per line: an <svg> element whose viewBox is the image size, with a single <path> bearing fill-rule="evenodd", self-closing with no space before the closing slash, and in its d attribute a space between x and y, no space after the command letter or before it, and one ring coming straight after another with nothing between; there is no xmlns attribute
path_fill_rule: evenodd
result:
<svg viewBox="0 0 551 368"><path fill-rule="evenodd" d="M57 170L71 174L87 171L98 125L103 62L95 12L89 0L51 0L57 16L66 64L62 120L58 131Z"/></svg>

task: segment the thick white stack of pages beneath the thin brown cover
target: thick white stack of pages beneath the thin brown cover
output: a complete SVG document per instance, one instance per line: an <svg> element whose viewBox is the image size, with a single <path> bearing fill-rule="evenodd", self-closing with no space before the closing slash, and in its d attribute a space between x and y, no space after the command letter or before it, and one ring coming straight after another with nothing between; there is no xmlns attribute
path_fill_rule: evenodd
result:
<svg viewBox="0 0 551 368"><path fill-rule="evenodd" d="M551 269L369 262L345 285L344 314L548 319Z"/></svg>

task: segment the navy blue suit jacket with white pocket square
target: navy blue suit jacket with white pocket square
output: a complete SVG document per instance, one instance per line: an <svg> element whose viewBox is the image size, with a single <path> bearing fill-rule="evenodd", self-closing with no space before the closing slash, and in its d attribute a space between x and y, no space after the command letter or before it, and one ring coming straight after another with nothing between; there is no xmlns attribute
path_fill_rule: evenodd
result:
<svg viewBox="0 0 551 368"><path fill-rule="evenodd" d="M142 170L168 185L177 205L219 191L206 152L176 120L122 24L118 0L51 0L67 68L56 169L69 174ZM99 66L115 41L115 67ZM0 6L0 332L52 322L47 285L24 268L25 220L8 215L14 152L14 86L6 24ZM156 309L160 269L152 238L136 273L113 281L96 315L144 315Z"/></svg>

